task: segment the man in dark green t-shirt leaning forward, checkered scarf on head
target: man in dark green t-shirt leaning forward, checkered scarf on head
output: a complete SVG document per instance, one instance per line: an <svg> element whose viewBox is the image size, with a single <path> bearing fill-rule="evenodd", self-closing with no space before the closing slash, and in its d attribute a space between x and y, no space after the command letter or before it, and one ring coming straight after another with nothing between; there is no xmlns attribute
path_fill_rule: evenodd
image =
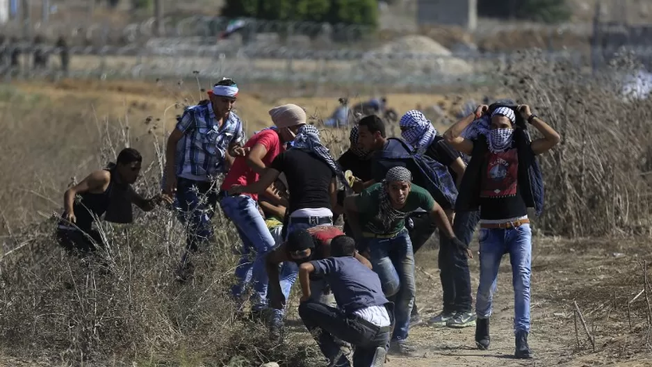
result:
<svg viewBox="0 0 652 367"><path fill-rule="evenodd" d="M344 199L344 212L355 238L361 248L368 249L384 294L396 304L396 328L389 352L407 356L414 354L414 348L407 345L406 340L415 293L414 254L405 229L407 214L417 208L427 208L430 218L450 243L472 256L455 237L441 206L425 188L412 184L411 179L407 168L393 167L382 182Z"/></svg>

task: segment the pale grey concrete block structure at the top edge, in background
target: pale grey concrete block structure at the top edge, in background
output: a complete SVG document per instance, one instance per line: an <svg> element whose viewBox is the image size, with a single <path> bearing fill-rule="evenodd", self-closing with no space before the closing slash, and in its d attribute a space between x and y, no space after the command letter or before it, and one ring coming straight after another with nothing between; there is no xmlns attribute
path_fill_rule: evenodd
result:
<svg viewBox="0 0 652 367"><path fill-rule="evenodd" d="M454 25L469 31L478 24L478 0L417 0L419 25Z"/></svg>

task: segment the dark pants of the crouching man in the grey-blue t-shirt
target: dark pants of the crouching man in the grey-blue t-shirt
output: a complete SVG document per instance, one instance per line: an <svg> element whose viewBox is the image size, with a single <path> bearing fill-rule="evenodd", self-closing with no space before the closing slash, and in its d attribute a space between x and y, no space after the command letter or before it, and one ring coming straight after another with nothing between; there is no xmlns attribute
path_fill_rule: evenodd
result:
<svg viewBox="0 0 652 367"><path fill-rule="evenodd" d="M340 350L334 337L354 346L353 367L370 366L376 348L387 348L391 337L389 326L378 327L358 316L347 316L339 309L322 303L303 302L299 305L299 316L330 366L350 366L344 355L333 361Z"/></svg>

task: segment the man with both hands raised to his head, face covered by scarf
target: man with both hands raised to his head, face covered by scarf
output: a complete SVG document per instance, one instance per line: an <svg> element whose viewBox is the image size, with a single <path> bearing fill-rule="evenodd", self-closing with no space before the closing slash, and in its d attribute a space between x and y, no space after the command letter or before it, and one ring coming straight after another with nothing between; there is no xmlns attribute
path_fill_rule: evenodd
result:
<svg viewBox="0 0 652 367"><path fill-rule="evenodd" d="M531 141L525 122L539 130L543 138ZM543 179L535 156L557 145L560 135L532 114L527 105L494 104L492 108L478 106L475 113L450 127L444 138L471 156L455 211L480 208L475 343L482 350L489 348L489 316L498 268L503 254L509 253L514 279L514 356L531 358L528 334L532 232L527 209L533 207L537 215L541 214Z"/></svg>

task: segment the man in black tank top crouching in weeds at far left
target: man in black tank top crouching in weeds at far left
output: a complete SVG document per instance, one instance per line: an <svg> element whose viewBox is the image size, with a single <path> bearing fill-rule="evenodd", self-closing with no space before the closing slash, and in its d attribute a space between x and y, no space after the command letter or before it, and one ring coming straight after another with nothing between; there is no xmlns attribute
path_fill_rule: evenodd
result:
<svg viewBox="0 0 652 367"><path fill-rule="evenodd" d="M138 179L142 156L133 148L125 148L117 155L115 163L97 170L80 183L69 188L63 195L64 212L59 220L56 236L67 252L80 255L104 246L104 238L92 224L104 213L104 220L116 223L131 223L131 204L143 211L151 211L161 202L172 203L167 195L156 195L145 199L131 187ZM76 200L79 195L81 200Z"/></svg>

